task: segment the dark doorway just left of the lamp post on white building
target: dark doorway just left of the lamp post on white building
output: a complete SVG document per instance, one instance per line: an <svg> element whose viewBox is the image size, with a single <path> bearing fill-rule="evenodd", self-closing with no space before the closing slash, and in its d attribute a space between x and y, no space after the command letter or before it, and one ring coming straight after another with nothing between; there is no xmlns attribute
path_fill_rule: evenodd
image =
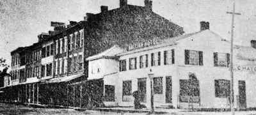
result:
<svg viewBox="0 0 256 115"><path fill-rule="evenodd" d="M146 102L147 99L147 78L143 78L143 79L138 79L138 92L140 94L140 102Z"/></svg>

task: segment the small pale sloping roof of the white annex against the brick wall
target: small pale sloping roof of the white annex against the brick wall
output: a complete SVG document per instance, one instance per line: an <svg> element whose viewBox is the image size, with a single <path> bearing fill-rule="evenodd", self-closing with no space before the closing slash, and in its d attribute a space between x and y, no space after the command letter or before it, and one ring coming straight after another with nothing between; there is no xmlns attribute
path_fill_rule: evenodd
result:
<svg viewBox="0 0 256 115"><path fill-rule="evenodd" d="M119 54L120 52L124 52L124 49L122 49L118 45L114 45L113 47L105 50L104 52L101 52L94 56L87 57L86 61L92 61L92 60L100 59L100 58L115 58L116 54Z"/></svg>

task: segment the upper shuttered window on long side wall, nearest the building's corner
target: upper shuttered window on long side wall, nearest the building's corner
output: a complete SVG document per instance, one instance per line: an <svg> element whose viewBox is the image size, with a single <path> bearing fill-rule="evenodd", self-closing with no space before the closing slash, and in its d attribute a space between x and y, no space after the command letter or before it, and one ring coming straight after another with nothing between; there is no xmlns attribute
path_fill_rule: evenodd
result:
<svg viewBox="0 0 256 115"><path fill-rule="evenodd" d="M164 50L164 65L172 65L174 62L174 49Z"/></svg>

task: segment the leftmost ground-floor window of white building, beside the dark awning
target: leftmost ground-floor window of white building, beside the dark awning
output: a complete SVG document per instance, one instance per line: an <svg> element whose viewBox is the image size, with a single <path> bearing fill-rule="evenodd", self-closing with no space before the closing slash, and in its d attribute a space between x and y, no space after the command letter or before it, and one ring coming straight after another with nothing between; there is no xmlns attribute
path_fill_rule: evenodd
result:
<svg viewBox="0 0 256 115"><path fill-rule="evenodd" d="M115 86L105 85L105 101L115 102Z"/></svg>

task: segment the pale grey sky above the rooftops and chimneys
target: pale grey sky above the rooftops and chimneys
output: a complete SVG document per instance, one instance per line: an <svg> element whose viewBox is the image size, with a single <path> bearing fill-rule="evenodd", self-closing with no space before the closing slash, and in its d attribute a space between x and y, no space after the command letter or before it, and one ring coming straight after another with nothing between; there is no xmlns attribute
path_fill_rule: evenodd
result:
<svg viewBox="0 0 256 115"><path fill-rule="evenodd" d="M200 21L210 22L210 29L230 40L234 0L152 0L153 11L184 27L185 33L199 31ZM144 0L128 0L144 6ZM100 6L119 7L119 0L0 0L0 57L10 65L10 52L37 42L37 35L52 30L51 21L83 20L86 13L99 13ZM250 45L256 40L256 1L236 0L234 42Z"/></svg>

